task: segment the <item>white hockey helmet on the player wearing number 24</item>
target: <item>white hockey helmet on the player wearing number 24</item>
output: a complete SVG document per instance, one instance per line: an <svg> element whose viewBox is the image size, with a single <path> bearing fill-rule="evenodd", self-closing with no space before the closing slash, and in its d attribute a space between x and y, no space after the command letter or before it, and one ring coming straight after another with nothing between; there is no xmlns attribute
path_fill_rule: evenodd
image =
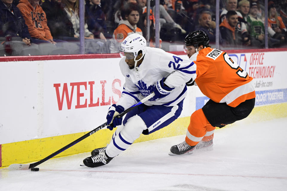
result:
<svg viewBox="0 0 287 191"><path fill-rule="evenodd" d="M136 60L136 57L138 56L138 52L140 50L142 51L142 54L143 54L141 58L143 58L144 55L146 54L146 39L138 33L134 33L134 34L127 36L123 40L120 46L120 52L134 53L134 56L135 56L134 60L136 62L141 60L141 58Z"/></svg>

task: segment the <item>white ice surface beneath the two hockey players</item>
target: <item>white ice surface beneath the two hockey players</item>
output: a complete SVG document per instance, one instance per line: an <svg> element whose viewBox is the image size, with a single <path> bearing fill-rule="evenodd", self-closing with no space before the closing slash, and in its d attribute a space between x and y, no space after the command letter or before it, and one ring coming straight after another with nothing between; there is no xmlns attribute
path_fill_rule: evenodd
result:
<svg viewBox="0 0 287 191"><path fill-rule="evenodd" d="M109 164L80 167L90 153L49 159L40 171L0 169L0 190L287 190L287 118L216 130L212 151L169 156L185 135L132 144Z"/></svg>

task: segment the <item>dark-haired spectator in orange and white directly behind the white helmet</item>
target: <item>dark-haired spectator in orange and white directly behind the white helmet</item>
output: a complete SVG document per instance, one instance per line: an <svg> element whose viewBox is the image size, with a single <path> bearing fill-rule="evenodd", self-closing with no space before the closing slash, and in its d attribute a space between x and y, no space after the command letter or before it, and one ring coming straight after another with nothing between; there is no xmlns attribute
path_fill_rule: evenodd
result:
<svg viewBox="0 0 287 191"><path fill-rule="evenodd" d="M115 29L111 39L111 53L119 53L121 42L130 34L138 33L143 35L141 29L137 27L140 14L142 13L142 9L138 4L127 3L120 10L120 13L123 20L120 20L119 26Z"/></svg>

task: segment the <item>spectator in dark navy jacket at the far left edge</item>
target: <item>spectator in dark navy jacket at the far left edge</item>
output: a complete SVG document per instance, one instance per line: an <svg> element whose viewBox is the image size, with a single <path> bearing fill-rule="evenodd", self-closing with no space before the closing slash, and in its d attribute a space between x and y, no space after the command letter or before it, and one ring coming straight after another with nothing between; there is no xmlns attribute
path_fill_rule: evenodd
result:
<svg viewBox="0 0 287 191"><path fill-rule="evenodd" d="M28 27L20 10L12 2L12 0L0 1L0 36L19 36L25 44L30 46L32 40Z"/></svg>

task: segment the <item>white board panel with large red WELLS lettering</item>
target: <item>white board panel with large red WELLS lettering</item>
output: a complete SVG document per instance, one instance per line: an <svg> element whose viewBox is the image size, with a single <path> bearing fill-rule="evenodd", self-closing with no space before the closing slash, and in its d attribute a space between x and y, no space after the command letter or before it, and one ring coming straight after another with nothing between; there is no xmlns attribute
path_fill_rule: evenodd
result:
<svg viewBox="0 0 287 191"><path fill-rule="evenodd" d="M119 59L47 61L44 71L49 75L43 78L45 137L90 131L106 122L108 108L119 100L125 82Z"/></svg>

